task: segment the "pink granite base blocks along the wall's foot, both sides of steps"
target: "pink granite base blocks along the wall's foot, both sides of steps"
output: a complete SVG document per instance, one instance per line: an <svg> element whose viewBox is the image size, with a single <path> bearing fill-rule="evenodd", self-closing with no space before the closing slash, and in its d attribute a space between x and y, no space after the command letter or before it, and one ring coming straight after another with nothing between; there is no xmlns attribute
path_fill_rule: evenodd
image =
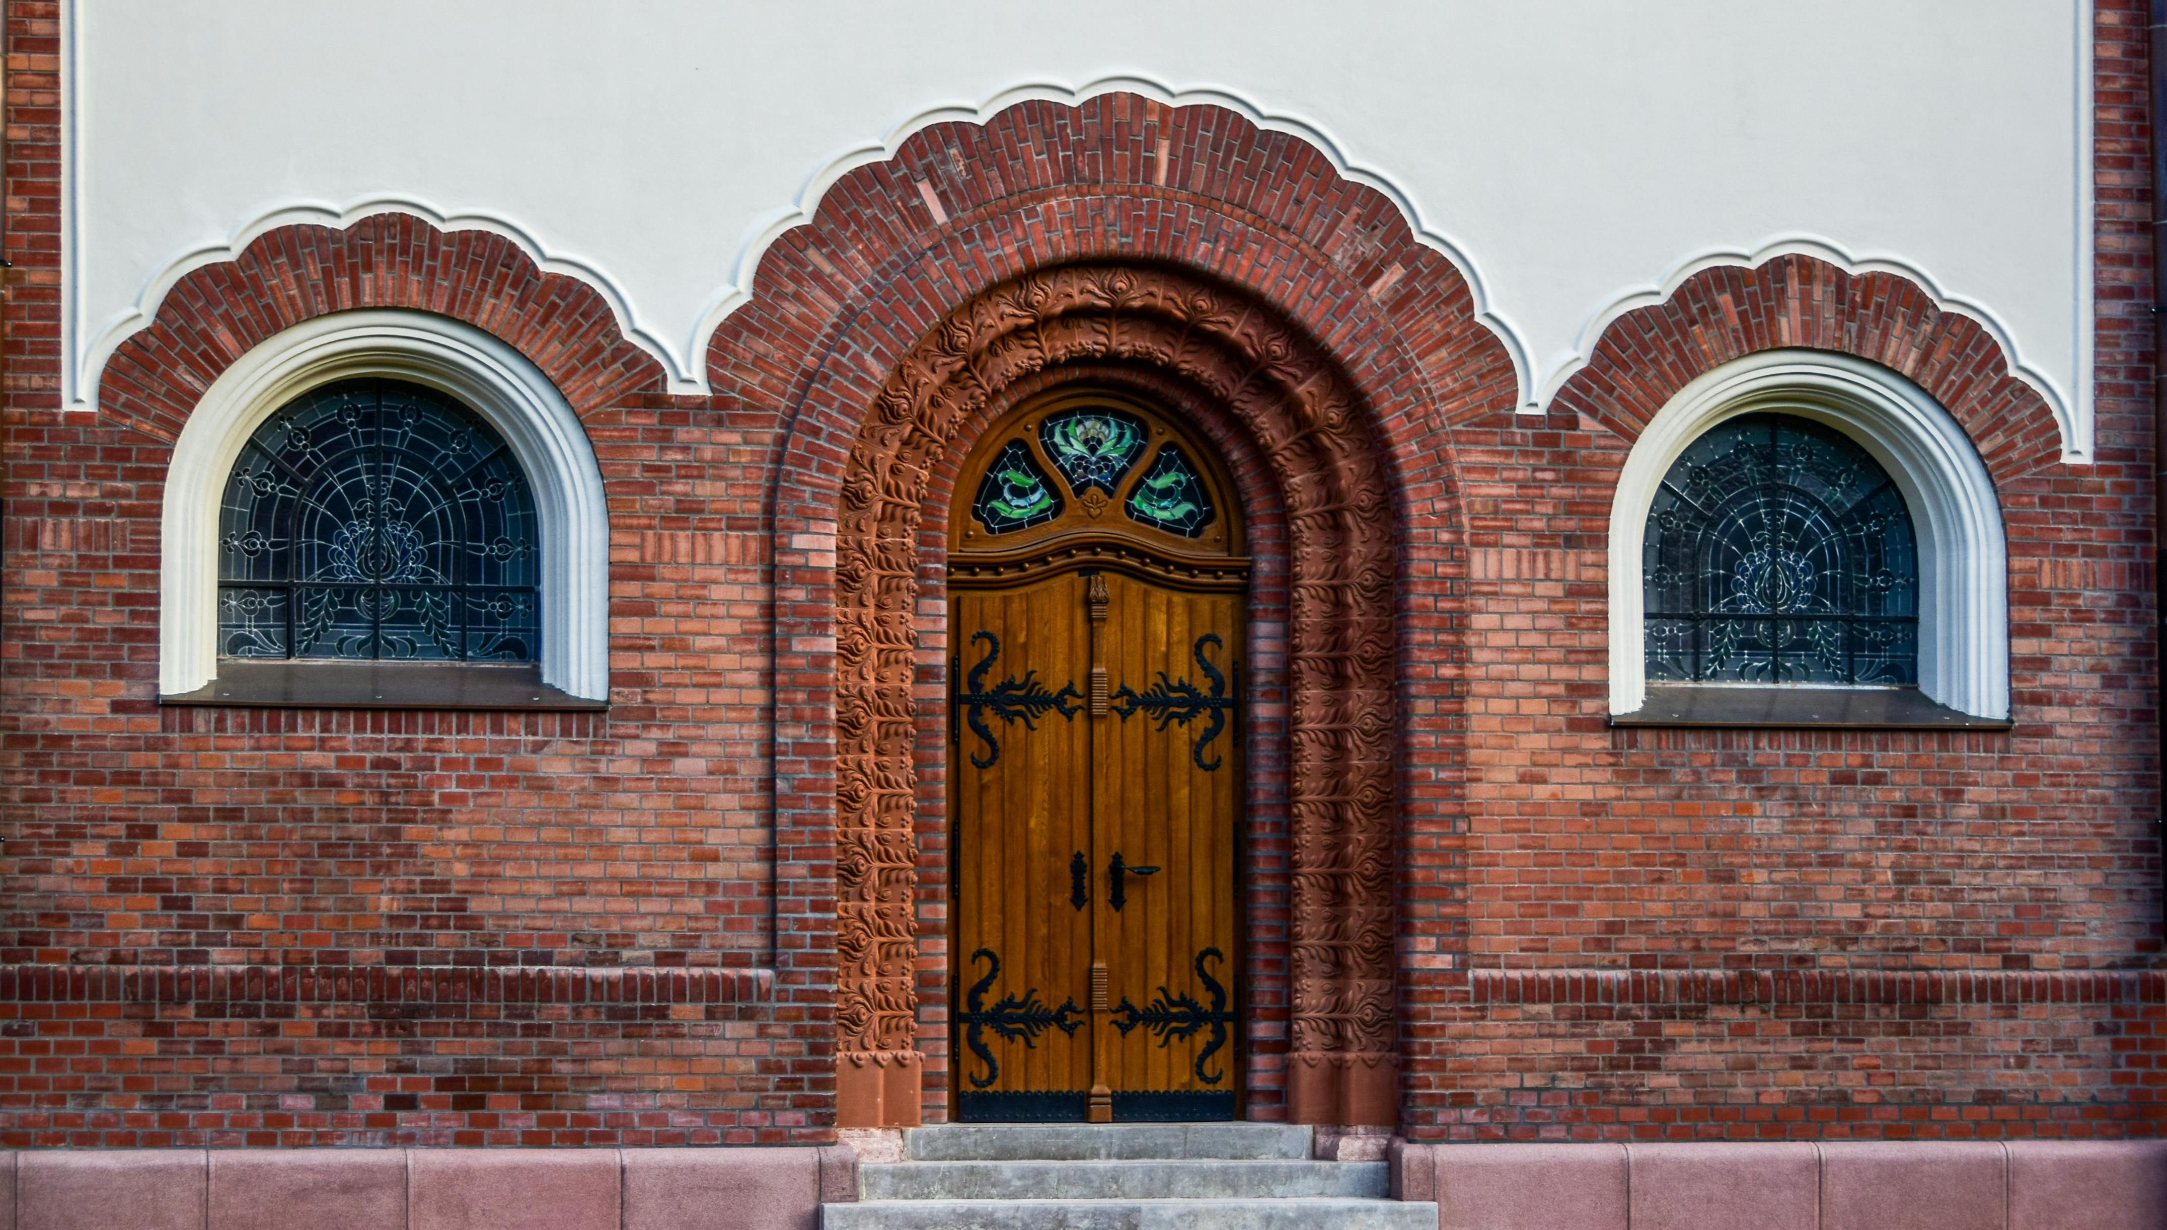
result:
<svg viewBox="0 0 2167 1230"><path fill-rule="evenodd" d="M2167 1141L1417 1146L1441 1230L2160 1230ZM0 1230L817 1230L847 1148L0 1152Z"/></svg>

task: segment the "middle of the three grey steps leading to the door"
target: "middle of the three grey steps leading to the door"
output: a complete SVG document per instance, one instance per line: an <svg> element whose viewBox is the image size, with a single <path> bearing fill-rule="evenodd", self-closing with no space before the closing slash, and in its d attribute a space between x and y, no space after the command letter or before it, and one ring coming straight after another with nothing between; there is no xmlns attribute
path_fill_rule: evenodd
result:
<svg viewBox="0 0 2167 1230"><path fill-rule="evenodd" d="M1383 1200L1385 1163L906 1161L858 1167L862 1200Z"/></svg>

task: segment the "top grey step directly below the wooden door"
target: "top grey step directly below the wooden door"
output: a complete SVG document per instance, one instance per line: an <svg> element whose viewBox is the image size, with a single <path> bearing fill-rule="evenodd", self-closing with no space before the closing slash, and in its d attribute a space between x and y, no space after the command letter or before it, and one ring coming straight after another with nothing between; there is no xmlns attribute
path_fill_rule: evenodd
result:
<svg viewBox="0 0 2167 1230"><path fill-rule="evenodd" d="M904 1133L910 1161L1309 1161L1300 1124L936 1124Z"/></svg>

